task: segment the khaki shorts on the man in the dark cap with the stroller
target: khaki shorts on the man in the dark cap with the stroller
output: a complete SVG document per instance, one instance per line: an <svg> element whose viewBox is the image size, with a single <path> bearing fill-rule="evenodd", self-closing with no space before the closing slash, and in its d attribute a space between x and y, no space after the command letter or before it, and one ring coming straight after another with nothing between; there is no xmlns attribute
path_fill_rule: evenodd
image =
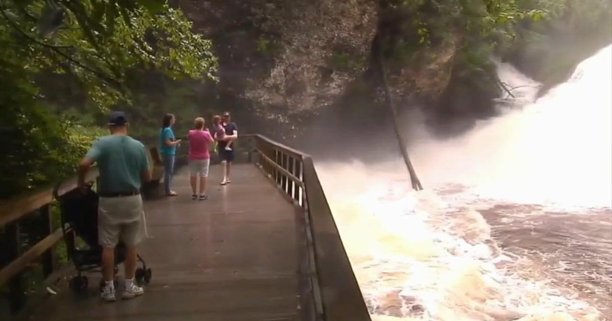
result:
<svg viewBox="0 0 612 321"><path fill-rule="evenodd" d="M114 248L119 240L135 246L145 237L143 199L140 195L100 197L98 239L104 248Z"/></svg>

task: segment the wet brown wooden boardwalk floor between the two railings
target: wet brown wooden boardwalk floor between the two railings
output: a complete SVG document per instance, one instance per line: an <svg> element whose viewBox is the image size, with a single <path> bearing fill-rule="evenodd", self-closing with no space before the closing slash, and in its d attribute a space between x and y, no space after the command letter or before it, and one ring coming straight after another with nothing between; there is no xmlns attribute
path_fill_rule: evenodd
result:
<svg viewBox="0 0 612 321"><path fill-rule="evenodd" d="M153 276L142 297L103 303L92 274L88 294L61 287L30 319L298 320L299 211L252 164L234 166L232 181L218 185L211 166L210 199L193 201L183 169L179 196L145 203L139 253Z"/></svg>

